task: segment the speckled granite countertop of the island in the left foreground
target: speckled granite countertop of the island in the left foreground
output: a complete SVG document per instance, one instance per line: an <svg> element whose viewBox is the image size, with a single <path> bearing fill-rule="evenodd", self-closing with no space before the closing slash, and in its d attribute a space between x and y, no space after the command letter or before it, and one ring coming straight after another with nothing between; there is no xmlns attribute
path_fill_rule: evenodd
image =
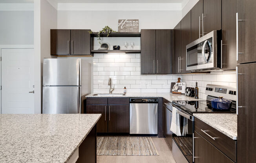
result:
<svg viewBox="0 0 256 163"><path fill-rule="evenodd" d="M101 114L0 114L1 163L66 163Z"/></svg>

